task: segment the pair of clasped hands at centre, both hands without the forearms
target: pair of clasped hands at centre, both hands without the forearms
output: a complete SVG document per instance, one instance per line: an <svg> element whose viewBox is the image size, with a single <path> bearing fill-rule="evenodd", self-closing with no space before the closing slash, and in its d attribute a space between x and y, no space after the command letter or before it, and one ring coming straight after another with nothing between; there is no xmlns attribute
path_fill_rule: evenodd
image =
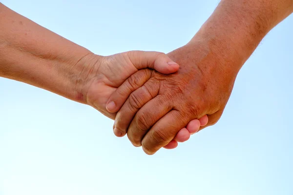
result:
<svg viewBox="0 0 293 195"><path fill-rule="evenodd" d="M212 54L193 43L168 55L85 56L84 103L115 119L114 134L146 154L173 149L215 124L230 97L236 74L215 66L221 60Z"/></svg>

